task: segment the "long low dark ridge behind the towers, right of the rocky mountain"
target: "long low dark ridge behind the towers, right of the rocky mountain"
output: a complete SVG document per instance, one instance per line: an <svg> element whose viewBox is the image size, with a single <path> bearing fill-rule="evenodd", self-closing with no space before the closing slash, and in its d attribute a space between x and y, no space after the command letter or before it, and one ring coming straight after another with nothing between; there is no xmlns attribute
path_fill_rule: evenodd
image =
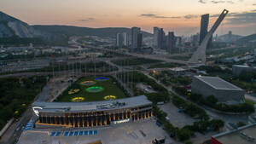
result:
<svg viewBox="0 0 256 144"><path fill-rule="evenodd" d="M116 33L128 32L131 33L131 28L125 27L106 27L106 28L90 28L79 26L33 26L36 30L65 34L67 36L98 36L98 37L114 37ZM152 37L153 35L148 32L143 32L143 37Z"/></svg>

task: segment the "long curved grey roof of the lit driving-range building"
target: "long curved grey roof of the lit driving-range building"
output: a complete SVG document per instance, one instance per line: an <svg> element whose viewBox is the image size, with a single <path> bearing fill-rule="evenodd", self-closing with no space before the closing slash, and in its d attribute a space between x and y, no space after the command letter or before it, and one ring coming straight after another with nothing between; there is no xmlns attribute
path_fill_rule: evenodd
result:
<svg viewBox="0 0 256 144"><path fill-rule="evenodd" d="M140 95L112 101L86 101L86 102L34 102L32 107L42 107L38 112L90 112L108 109L137 107L152 104L147 96Z"/></svg>

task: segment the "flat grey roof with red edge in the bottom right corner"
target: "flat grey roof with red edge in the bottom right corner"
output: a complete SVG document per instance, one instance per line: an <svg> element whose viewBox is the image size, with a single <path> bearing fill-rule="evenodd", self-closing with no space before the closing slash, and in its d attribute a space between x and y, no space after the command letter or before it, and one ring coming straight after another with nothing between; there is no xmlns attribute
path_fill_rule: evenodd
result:
<svg viewBox="0 0 256 144"><path fill-rule="evenodd" d="M236 144L252 144L255 143L256 125L248 124L238 130L226 131L212 137L223 144L234 144L234 141Z"/></svg>

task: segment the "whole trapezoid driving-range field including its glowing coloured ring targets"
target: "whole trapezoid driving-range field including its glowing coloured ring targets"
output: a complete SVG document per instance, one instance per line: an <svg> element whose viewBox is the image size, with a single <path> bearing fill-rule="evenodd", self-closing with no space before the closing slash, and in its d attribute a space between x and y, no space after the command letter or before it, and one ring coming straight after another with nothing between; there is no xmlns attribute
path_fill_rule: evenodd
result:
<svg viewBox="0 0 256 144"><path fill-rule="evenodd" d="M109 101L127 97L123 89L112 77L106 77L102 81L96 81L95 77L82 77L71 84L59 95L55 101L59 102L83 102L83 101ZM75 92L74 89L76 90ZM73 90L73 91L72 91ZM71 91L73 92L71 94Z"/></svg>

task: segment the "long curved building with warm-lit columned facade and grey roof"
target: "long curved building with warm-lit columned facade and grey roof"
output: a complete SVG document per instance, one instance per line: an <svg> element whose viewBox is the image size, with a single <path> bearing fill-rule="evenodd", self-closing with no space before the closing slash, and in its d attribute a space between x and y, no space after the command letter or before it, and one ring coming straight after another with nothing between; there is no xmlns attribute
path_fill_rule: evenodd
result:
<svg viewBox="0 0 256 144"><path fill-rule="evenodd" d="M36 128L92 127L120 124L152 116L152 102L145 95L112 101L35 102Z"/></svg>

